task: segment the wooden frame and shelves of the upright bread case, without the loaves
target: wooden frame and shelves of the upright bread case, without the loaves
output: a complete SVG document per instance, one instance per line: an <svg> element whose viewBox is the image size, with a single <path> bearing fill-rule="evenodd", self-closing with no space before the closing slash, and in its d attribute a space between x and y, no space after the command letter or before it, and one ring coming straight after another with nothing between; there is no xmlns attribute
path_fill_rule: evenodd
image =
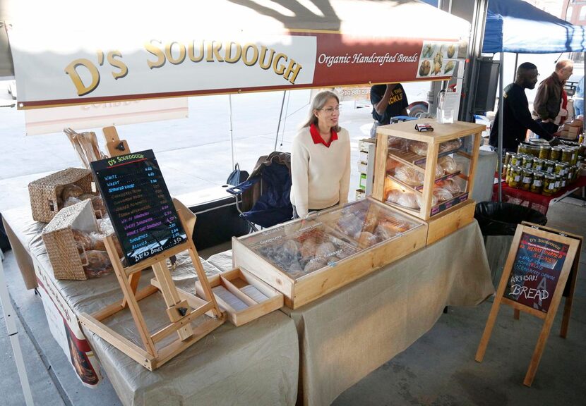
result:
<svg viewBox="0 0 586 406"><path fill-rule="evenodd" d="M433 126L433 132L420 133L415 130L415 125L422 123L430 123ZM379 126L377 128L373 197L385 202L386 192L391 188L413 193L416 197L418 196L420 202L419 209L403 207L400 204L390 202L385 203L426 221L440 216L443 211L450 210L450 213L452 213L457 211L458 208L465 207L467 199L472 193L472 187L474 186L474 175L477 168L482 131L485 129L485 125L464 123L461 121L456 121L453 124L438 124L430 118ZM426 155L415 154L411 151L397 152L397 150L389 147L389 136L409 140L409 142L424 142L426 144ZM463 147L457 149L443 148L446 146L446 144L442 144L443 142L450 142L462 137L472 138L470 151L465 152ZM465 142L462 142L462 144L465 144ZM457 171L436 178L438 159L441 156L448 155L453 155L455 159L467 161L467 171ZM408 185L395 178L392 169L394 164L402 164L411 168L413 171L423 173L424 179L421 185ZM465 187L462 188L460 194L453 196L451 199L446 200L446 202L441 202L433 206L434 185L449 178L462 179Z"/></svg>

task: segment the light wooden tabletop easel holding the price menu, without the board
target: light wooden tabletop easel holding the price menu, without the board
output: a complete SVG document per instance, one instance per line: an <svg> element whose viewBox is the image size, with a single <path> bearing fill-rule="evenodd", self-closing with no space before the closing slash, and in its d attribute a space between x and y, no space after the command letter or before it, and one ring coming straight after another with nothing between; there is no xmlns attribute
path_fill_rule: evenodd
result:
<svg viewBox="0 0 586 406"><path fill-rule="evenodd" d="M175 203L177 207L177 201ZM122 293L124 293L124 299L120 302L114 302L112 305L109 305L91 315L82 313L79 316L80 322L83 326L96 333L108 343L114 345L114 347L118 348L124 352L124 354L128 355L128 357L131 357L150 371L165 364L165 362L172 359L172 357L179 354L179 352L185 350L187 347L215 330L215 328L221 326L226 319L225 314L220 311L220 307L217 305L208 278L205 276L205 271L199 259L198 252L195 245L193 245L192 234L195 216L193 215L193 224L189 224L189 220L186 221L186 216L184 214L184 206L181 204L179 204L179 206L180 207L177 207L177 213L179 214L179 221L181 221L184 230L186 230L187 241L180 245L176 245L161 254L145 259L143 262L133 266L124 267L118 258L118 254L116 254L116 247L112 236L110 235L104 240L106 250L112 260L112 265L114 266L114 273L116 273L116 278L118 278L120 288L122 289ZM181 207L183 209L181 209ZM169 267L167 266L167 259L172 255L184 251L189 252L193 266L195 266L198 274L198 279L202 284L205 300L190 295L191 297L189 297L188 302L188 300L179 297L179 292L173 282ZM149 267L153 268L155 278L151 281L151 285L147 288L138 290L137 292L140 273ZM166 310L170 324L151 334L146 326L143 313L140 311L140 307L138 307L138 302L145 297L153 295L153 293L157 291L162 293L165 304L167 305ZM128 340L128 338L116 333L116 331L112 330L112 328L109 328L102 322L109 316L126 308L128 308L132 314L143 347L136 345L131 340ZM205 313L210 314L213 318L204 321L196 328L192 328L191 321L200 316L204 316ZM173 333L177 333L177 339L157 350L155 345L163 338Z"/></svg>

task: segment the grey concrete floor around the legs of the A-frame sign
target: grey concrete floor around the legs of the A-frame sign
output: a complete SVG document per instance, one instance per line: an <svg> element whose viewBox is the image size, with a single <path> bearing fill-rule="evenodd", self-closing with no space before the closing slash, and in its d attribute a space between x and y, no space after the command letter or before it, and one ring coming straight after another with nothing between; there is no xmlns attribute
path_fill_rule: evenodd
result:
<svg viewBox="0 0 586 406"><path fill-rule="evenodd" d="M583 204L566 199L550 207L547 226L584 235ZM568 337L559 336L558 309L531 388L522 382L543 326L537 317L522 314L515 321L513 310L501 307L484 361L474 361L492 305L489 300L478 307L450 307L428 333L346 390L333 404L585 405L585 254L582 247Z"/></svg>

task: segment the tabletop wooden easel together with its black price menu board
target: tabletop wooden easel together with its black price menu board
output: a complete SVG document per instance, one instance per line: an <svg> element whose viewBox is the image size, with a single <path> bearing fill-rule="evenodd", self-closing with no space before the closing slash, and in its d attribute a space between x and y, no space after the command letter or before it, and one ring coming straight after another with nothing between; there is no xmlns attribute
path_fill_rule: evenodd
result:
<svg viewBox="0 0 586 406"><path fill-rule="evenodd" d="M124 297L98 312L80 314L79 320L153 371L225 321L193 245L196 218L181 202L170 197L151 150L112 156L94 161L91 166L126 259L121 261L112 235L107 236L104 245ZM181 297L174 284L167 260L184 251L189 253L203 286L203 299L193 295ZM151 284L137 291L141 273L151 268L155 275ZM152 332L138 302L159 291L165 300L162 306L169 324ZM104 324L109 316L126 308L132 314L142 347ZM196 319L205 321L192 326ZM175 340L165 340L175 334Z"/></svg>

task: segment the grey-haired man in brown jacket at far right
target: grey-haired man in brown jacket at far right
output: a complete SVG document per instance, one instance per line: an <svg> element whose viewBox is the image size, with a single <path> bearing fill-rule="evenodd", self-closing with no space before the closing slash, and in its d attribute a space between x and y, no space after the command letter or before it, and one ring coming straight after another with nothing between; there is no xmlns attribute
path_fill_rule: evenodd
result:
<svg viewBox="0 0 586 406"><path fill-rule="evenodd" d="M549 78L539 83L535 100L533 101L533 118L549 133L556 133L558 124L554 123L560 112L563 84L570 78L574 70L574 63L569 60L556 63L556 70ZM568 113L566 112L566 115Z"/></svg>

